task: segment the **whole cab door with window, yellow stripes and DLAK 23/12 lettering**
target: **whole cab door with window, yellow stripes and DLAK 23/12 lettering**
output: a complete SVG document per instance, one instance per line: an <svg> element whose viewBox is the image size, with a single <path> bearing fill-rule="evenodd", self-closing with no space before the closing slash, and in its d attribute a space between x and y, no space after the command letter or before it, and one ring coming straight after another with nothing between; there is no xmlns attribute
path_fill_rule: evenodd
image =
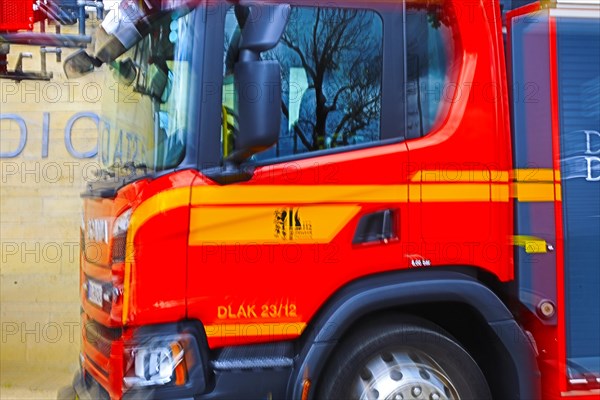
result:
<svg viewBox="0 0 600 400"><path fill-rule="evenodd" d="M402 7L335 7L292 4L283 39L262 54L282 71L278 144L249 160L249 180L199 175L192 189L189 317L213 347L295 338L345 284L409 265ZM226 157L244 10L224 15L210 31L225 49Z"/></svg>

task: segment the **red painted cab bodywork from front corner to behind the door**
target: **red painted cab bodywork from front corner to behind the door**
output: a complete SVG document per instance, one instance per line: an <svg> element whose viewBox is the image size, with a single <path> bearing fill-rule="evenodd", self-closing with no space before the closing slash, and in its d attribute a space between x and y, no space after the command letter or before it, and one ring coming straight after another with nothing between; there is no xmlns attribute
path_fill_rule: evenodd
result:
<svg viewBox="0 0 600 400"><path fill-rule="evenodd" d="M462 3L449 2L447 7L451 12L450 8L462 7ZM280 209L357 207L334 237L312 244L223 242L212 236L218 227L204 226L204 231L192 229L190 233L200 243L187 247L189 210L185 201L178 200L175 209L169 206L166 212L152 215L130 238L135 255L130 264L127 321L142 325L198 319L207 326L210 346L219 347L299 336L329 296L370 274L415 265L460 265L487 270L501 281L512 279L510 140L504 72L498 66L502 60L499 15L491 6L471 11L455 13L459 16L455 21L456 84L444 90L449 95L447 115L429 136L259 169L250 182L232 185L236 193L252 193L254 187L266 191L251 203L243 197L227 198L220 188L215 190L216 200L205 200L202 188L215 184L200 176L194 182L191 197L197 201L192 200L192 214L223 212L223 208L235 214L253 208L267 212L270 222ZM136 204L187 187L192 173L181 174L151 183ZM471 185L477 186L479 194L468 200ZM317 190L320 197L278 200L282 192L297 186L306 187L307 192ZM338 192L347 187L360 192L368 186L385 191L385 199L346 198ZM453 192L448 201L446 195L435 194L446 189ZM461 193L463 189L466 194ZM189 197L181 190L175 196ZM354 246L361 217L386 209L396 211L397 240ZM217 223L223 229L226 224ZM244 229L252 229L252 224ZM413 264L415 260L421 264ZM183 276L187 277L185 289ZM288 311L282 316L286 306ZM289 312L291 306L295 312ZM277 312L271 312L272 307Z"/></svg>

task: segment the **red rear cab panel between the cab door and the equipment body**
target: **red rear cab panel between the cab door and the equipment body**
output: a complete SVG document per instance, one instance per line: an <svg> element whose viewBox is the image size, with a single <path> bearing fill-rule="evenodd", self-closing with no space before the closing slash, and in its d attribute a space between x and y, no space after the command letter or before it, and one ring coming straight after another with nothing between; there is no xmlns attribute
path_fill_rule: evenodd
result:
<svg viewBox="0 0 600 400"><path fill-rule="evenodd" d="M499 11L469 9L454 2L457 42L454 65L460 66L446 90L449 112L437 131L408 142L411 168L458 171L433 175L422 188L439 183L489 185L490 193L508 187L503 173L512 168L507 88L503 71ZM458 42L460 40L460 42ZM448 94L451 94L448 96ZM484 171L475 176L473 171ZM424 178L427 178L424 176ZM411 202L410 229L421 246L435 249L435 265L470 265L487 269L500 280L513 278L512 211L502 202ZM447 249L447 250L444 250ZM436 252L439 256L436 257ZM449 254L446 254L449 253ZM439 260L439 261L437 261Z"/></svg>

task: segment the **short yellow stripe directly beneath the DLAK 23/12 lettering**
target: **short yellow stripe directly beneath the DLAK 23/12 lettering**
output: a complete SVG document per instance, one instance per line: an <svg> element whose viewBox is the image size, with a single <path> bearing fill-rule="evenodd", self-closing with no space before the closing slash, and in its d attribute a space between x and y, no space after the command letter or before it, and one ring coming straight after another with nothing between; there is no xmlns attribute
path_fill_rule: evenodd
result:
<svg viewBox="0 0 600 400"><path fill-rule="evenodd" d="M246 323L206 325L206 336L211 338L235 338L248 336L290 336L297 337L306 329L304 322Z"/></svg>

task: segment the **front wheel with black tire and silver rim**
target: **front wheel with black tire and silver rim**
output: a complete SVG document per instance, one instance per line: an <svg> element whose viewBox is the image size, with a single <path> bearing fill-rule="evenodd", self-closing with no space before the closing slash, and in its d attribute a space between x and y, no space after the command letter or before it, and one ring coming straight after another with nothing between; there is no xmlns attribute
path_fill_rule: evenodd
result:
<svg viewBox="0 0 600 400"><path fill-rule="evenodd" d="M368 325L337 347L318 399L491 399L473 358L437 325L404 316Z"/></svg>

